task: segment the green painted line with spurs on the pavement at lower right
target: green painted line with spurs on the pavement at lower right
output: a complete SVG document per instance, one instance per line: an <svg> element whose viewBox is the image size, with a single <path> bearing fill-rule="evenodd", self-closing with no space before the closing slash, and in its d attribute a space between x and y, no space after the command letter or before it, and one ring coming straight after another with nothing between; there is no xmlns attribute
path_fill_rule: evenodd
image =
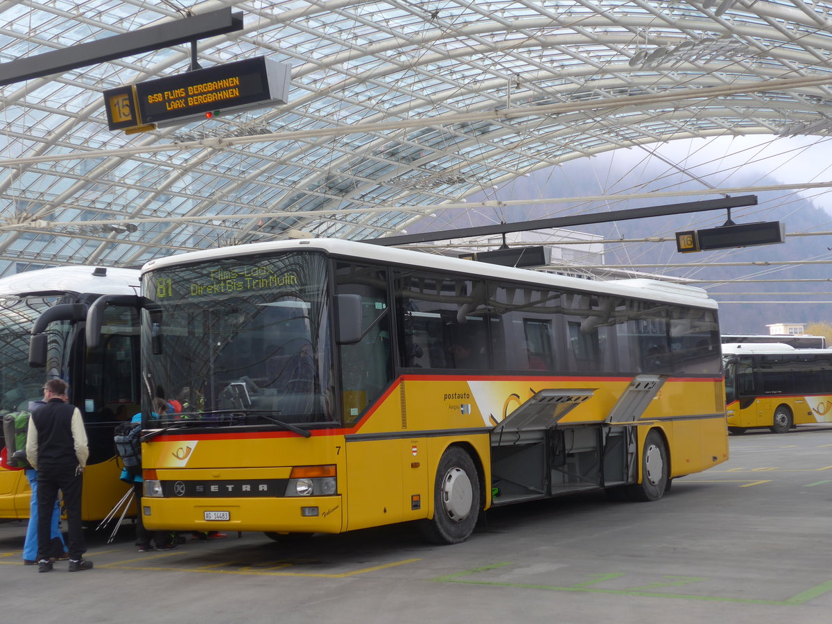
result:
<svg viewBox="0 0 832 624"><path fill-rule="evenodd" d="M631 589L604 589L602 587L594 587L599 582L609 581L613 578L620 578L624 576L621 573L613 574L599 574L595 575L595 579L588 582L577 583L576 585L538 585L536 583L513 583L513 582L498 582L498 581L482 581L471 577L478 572L489 572L497 570L501 567L513 566L512 562L493 563L492 565L475 567L472 570L464 570L463 572L455 572L447 574L443 577L436 577L431 580L436 582L453 582L453 583L467 583L469 585L488 585L490 587L521 587L523 589L539 589L547 592L586 592L599 594L613 594L618 596L638 596L651 598L676 598L679 600L698 600L704 602L740 602L743 604L755 605L785 605L785 606L799 606L805 602L809 602L817 597L823 596L826 593L832 592L832 581L822 582L815 587L810 587L805 592L795 594L785 600L761 600L755 598L732 598L723 596L697 596L696 594L669 594L661 592L649 592L648 589L656 587L674 587L678 585L687 585L692 582L700 582L708 580L705 577L677 577L677 576L662 576L661 578L671 579L669 582L655 582L643 587L633 587ZM592 586L592 587L589 587Z"/></svg>

